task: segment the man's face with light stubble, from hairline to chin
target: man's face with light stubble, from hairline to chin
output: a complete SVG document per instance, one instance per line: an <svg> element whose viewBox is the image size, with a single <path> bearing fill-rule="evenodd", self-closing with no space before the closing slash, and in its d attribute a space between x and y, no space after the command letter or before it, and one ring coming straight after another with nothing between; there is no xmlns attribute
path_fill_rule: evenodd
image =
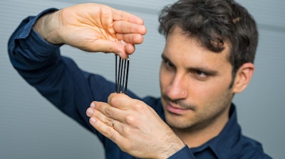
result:
<svg viewBox="0 0 285 159"><path fill-rule="evenodd" d="M213 53L180 28L167 36L160 67L162 106L172 128L205 128L228 116L232 102L229 48Z"/></svg>

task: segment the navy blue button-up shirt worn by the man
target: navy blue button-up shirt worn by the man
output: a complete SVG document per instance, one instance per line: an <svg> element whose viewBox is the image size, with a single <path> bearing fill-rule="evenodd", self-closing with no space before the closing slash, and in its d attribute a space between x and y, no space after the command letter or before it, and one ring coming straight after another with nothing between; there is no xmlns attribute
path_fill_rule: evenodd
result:
<svg viewBox="0 0 285 159"><path fill-rule="evenodd" d="M52 45L43 40L35 31L33 24L46 13L57 11L47 9L38 16L29 16L21 22L9 39L9 56L19 74L35 87L64 114L94 133L105 148L106 159L133 159L118 146L105 138L89 124L86 116L90 102L106 102L108 95L115 92L115 84L100 75L94 75L78 68L68 57L61 56L61 45ZM128 96L140 99L133 92ZM145 97L140 99L151 106L165 121L160 98ZM218 136L198 148L185 146L170 159L211 159L211 158L270 158L259 142L242 135L237 123L234 104L229 112L229 121Z"/></svg>

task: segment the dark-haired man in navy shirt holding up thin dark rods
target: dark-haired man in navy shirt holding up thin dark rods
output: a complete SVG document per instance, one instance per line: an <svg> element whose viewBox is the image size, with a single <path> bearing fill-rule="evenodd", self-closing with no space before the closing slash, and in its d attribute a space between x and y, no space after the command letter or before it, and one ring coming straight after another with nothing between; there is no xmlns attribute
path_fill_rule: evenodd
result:
<svg viewBox="0 0 285 159"><path fill-rule="evenodd" d="M113 82L60 55L63 44L123 58L134 52L146 33L142 19L108 6L28 17L11 35L9 55L29 84L100 138L106 158L270 158L242 136L232 104L254 72L258 33L247 10L229 0L181 0L159 20L159 99L113 93Z"/></svg>

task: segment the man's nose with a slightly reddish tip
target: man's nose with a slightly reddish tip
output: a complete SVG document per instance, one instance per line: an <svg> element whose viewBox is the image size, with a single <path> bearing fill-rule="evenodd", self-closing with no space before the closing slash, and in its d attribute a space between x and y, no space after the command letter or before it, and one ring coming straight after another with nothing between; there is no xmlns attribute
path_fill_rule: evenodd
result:
<svg viewBox="0 0 285 159"><path fill-rule="evenodd" d="M167 97L172 100L186 99L187 94L187 79L183 75L175 75L171 84L167 87Z"/></svg>

